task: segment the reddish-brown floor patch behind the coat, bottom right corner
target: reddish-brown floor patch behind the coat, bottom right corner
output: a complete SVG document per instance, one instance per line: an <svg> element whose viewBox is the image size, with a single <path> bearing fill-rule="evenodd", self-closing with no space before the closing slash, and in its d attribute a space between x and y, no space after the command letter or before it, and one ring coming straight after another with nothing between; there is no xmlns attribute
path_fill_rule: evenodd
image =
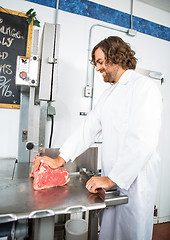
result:
<svg viewBox="0 0 170 240"><path fill-rule="evenodd" d="M170 222L154 224L152 240L170 240Z"/></svg>

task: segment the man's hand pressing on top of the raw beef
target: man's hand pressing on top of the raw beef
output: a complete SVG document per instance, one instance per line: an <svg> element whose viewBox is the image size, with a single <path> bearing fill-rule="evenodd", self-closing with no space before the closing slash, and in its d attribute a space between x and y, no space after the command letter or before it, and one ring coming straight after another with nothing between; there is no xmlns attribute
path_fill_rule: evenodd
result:
<svg viewBox="0 0 170 240"><path fill-rule="evenodd" d="M57 169L66 163L66 161L60 156L58 156L56 159L53 159L47 156L43 156L43 157L39 156L39 157L35 157L33 162L35 163L35 166L34 166L35 171L39 169L41 163L47 164L52 169Z"/></svg>

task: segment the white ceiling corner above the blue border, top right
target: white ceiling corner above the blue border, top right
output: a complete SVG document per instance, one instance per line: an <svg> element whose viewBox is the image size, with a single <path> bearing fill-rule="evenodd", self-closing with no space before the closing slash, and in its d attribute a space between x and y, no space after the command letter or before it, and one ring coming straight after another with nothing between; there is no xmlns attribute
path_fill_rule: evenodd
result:
<svg viewBox="0 0 170 240"><path fill-rule="evenodd" d="M138 1L144 2L153 7L170 12L170 0L138 0Z"/></svg>

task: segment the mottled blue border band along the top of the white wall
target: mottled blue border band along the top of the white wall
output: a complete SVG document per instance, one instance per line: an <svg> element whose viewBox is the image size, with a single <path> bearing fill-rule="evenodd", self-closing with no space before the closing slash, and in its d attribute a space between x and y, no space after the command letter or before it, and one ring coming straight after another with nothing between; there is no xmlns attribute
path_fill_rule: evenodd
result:
<svg viewBox="0 0 170 240"><path fill-rule="evenodd" d="M56 7L57 0L26 0L44 6ZM130 28L130 14L112 9L87 0L60 0L59 9L103 22ZM170 41L170 28L133 16L133 28L141 33Z"/></svg>

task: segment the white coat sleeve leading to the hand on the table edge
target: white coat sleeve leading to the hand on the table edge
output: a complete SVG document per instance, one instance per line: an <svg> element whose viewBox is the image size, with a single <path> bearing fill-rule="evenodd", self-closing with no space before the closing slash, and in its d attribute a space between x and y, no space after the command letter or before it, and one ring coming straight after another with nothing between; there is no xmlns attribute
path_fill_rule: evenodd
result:
<svg viewBox="0 0 170 240"><path fill-rule="evenodd" d="M128 131L109 178L128 190L142 168L156 154L161 125L162 96L150 79L134 85Z"/></svg>

